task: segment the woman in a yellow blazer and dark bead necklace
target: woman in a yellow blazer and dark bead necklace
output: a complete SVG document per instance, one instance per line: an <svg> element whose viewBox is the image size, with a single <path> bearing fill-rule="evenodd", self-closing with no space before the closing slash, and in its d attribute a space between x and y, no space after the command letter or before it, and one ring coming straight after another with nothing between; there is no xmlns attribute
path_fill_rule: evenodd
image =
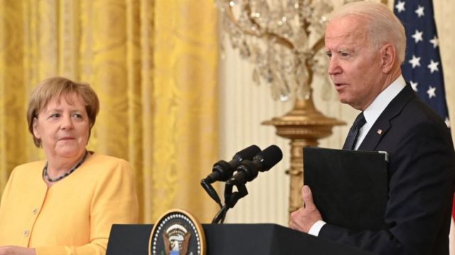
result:
<svg viewBox="0 0 455 255"><path fill-rule="evenodd" d="M136 223L132 167L86 149L100 108L87 84L54 77L28 103L47 160L17 166L0 202L0 254L105 254L113 223Z"/></svg>

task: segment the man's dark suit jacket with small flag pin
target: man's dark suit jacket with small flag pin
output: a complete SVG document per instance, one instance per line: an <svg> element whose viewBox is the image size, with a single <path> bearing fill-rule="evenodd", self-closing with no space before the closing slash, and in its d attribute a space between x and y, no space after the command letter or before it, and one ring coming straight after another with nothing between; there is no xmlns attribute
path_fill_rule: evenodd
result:
<svg viewBox="0 0 455 255"><path fill-rule="evenodd" d="M328 222L319 237L375 254L449 254L455 154L444 121L407 84L359 149L389 153L389 228L358 232Z"/></svg>

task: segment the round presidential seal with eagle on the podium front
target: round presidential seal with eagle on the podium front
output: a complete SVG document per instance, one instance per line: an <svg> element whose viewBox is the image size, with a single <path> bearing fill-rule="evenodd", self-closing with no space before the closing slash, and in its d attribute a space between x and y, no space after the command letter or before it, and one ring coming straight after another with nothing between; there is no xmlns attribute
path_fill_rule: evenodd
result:
<svg viewBox="0 0 455 255"><path fill-rule="evenodd" d="M190 213L173 209L151 229L149 255L204 255L203 228Z"/></svg>

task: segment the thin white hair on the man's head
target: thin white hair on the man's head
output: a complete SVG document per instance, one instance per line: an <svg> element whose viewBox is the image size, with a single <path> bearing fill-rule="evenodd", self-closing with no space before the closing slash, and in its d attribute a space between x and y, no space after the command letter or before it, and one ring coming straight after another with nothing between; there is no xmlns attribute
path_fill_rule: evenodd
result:
<svg viewBox="0 0 455 255"><path fill-rule="evenodd" d="M397 50L400 64L405 61L406 33L401 21L385 4L372 1L356 1L345 4L331 13L330 20L346 16L360 16L367 21L368 38L375 50L385 42L391 42Z"/></svg>

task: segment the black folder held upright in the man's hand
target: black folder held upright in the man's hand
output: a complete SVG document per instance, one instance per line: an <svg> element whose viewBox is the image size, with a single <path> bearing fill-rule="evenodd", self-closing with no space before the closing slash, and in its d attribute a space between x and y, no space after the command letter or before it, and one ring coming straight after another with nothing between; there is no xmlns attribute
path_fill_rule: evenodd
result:
<svg viewBox="0 0 455 255"><path fill-rule="evenodd" d="M387 229L387 152L304 148L304 184L325 222L353 230Z"/></svg>

